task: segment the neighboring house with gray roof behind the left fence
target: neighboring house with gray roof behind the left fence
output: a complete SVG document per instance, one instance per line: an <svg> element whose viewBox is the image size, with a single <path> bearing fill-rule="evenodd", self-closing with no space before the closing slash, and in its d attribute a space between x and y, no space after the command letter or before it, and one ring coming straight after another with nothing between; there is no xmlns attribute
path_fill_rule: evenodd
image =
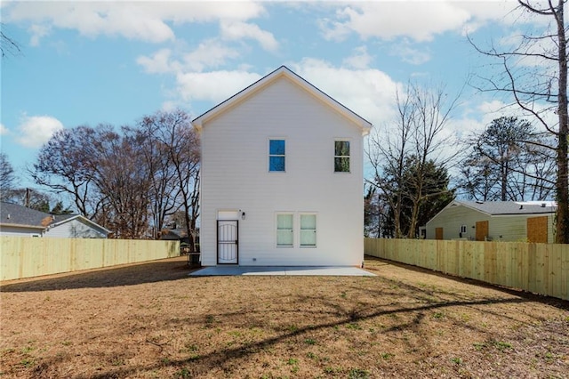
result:
<svg viewBox="0 0 569 379"><path fill-rule="evenodd" d="M0 204L0 236L107 238L108 233L82 215L52 215L12 203Z"/></svg>

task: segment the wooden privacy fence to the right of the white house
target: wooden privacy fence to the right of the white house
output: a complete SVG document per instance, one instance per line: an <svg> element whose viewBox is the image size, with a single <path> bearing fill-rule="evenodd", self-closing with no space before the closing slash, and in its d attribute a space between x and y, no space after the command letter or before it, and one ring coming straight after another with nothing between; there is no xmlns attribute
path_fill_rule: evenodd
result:
<svg viewBox="0 0 569 379"><path fill-rule="evenodd" d="M365 238L365 254L569 300L569 245Z"/></svg>

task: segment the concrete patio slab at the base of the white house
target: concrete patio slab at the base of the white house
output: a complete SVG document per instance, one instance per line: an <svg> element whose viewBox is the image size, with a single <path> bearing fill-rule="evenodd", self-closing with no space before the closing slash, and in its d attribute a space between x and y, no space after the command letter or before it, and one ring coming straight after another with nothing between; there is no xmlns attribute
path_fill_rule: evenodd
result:
<svg viewBox="0 0 569 379"><path fill-rule="evenodd" d="M335 276L374 277L375 274L357 267L277 267L277 266L211 266L190 272L190 277L236 276L236 275L288 275L288 276Z"/></svg>

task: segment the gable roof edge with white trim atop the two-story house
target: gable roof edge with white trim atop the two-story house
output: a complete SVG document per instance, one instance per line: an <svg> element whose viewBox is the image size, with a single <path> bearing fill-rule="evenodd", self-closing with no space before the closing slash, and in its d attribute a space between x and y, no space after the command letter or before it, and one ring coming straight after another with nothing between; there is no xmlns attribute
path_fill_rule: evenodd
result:
<svg viewBox="0 0 569 379"><path fill-rule="evenodd" d="M232 108L237 103L244 101L244 99L250 97L253 93L257 93L258 91L260 91L260 89L265 88L267 85L270 85L271 83L274 83L277 79L281 77L287 78L293 84L298 85L304 91L312 94L319 101L322 101L328 107L340 113L343 117L348 118L352 123L356 124L361 128L362 135L367 135L370 132L370 129L372 128L372 123L367 121L364 117L360 117L359 115L357 115L356 112L342 105L340 102L335 101L332 97L319 90L315 85L312 85L304 78L295 74L291 69L288 69L286 66L281 66L278 69L274 70L273 72L269 73L267 76L261 77L258 81L256 81L252 85L249 85L248 87L244 88L244 90L231 96L226 101L220 102L220 104L206 111L201 116L196 117L192 121L192 125L194 125L194 127L198 131L201 131L205 122L209 121L213 117L220 115L226 110Z"/></svg>

